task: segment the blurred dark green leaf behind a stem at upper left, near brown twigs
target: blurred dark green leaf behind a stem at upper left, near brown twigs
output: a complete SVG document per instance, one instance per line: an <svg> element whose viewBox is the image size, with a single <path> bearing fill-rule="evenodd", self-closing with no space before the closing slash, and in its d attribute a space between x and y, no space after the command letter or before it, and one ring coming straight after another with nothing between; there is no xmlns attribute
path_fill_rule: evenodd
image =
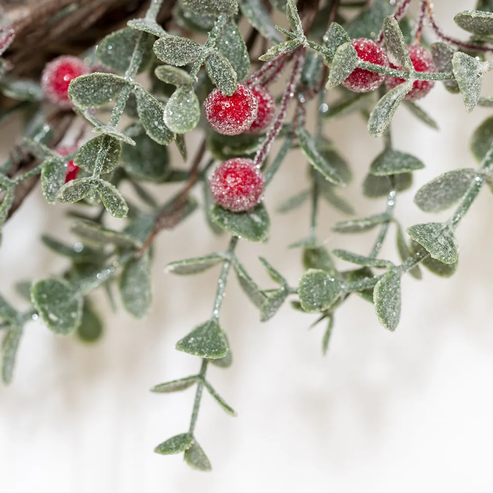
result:
<svg viewBox="0 0 493 493"><path fill-rule="evenodd" d="M130 27L114 31L98 43L98 48L96 49L98 60L111 70L125 73L130 66L132 55L140 36L142 36L140 43L142 62L139 72L143 72L152 60L154 37Z"/></svg>

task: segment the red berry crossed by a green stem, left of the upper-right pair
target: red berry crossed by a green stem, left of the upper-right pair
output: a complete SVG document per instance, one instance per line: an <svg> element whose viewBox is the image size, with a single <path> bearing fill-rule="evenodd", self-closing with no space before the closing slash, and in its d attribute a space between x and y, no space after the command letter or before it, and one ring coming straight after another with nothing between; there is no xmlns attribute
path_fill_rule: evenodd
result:
<svg viewBox="0 0 493 493"><path fill-rule="evenodd" d="M365 62L388 67L387 53L372 39L357 37L351 40L358 57ZM385 80L385 75L371 70L354 69L342 85L353 92L370 92L377 89Z"/></svg>

